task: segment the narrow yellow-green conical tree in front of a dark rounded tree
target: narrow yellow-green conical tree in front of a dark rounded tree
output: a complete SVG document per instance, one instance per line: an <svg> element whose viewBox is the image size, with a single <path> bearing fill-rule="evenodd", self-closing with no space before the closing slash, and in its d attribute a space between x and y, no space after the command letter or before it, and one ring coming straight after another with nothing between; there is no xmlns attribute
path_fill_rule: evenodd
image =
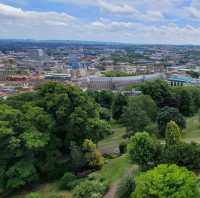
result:
<svg viewBox="0 0 200 198"><path fill-rule="evenodd" d="M171 146L180 142L181 132L179 126L174 121L170 121L166 127L166 145Z"/></svg>

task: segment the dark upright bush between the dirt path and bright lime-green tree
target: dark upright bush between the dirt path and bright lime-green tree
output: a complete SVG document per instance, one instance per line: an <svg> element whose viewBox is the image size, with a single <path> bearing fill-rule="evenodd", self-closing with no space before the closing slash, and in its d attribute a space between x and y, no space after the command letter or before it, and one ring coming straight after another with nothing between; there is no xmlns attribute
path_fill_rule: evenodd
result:
<svg viewBox="0 0 200 198"><path fill-rule="evenodd" d="M117 187L117 198L128 198L135 190L135 180L130 174L123 177Z"/></svg>

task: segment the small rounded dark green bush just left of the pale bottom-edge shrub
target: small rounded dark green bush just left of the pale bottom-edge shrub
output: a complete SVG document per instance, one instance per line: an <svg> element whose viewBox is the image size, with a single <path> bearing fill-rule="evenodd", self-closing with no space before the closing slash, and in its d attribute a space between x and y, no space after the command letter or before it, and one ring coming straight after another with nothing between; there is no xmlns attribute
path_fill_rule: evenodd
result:
<svg viewBox="0 0 200 198"><path fill-rule="evenodd" d="M60 180L60 189L71 190L74 187L76 180L76 175L71 172L66 172Z"/></svg>

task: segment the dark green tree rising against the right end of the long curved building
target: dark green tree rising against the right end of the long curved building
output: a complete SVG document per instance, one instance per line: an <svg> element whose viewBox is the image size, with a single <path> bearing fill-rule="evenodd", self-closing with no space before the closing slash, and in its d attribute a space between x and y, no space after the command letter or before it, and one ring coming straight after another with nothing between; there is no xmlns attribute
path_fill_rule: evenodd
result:
<svg viewBox="0 0 200 198"><path fill-rule="evenodd" d="M141 90L145 95L150 95L158 107L176 106L176 99L165 81L155 80L145 82L144 85L141 86Z"/></svg>

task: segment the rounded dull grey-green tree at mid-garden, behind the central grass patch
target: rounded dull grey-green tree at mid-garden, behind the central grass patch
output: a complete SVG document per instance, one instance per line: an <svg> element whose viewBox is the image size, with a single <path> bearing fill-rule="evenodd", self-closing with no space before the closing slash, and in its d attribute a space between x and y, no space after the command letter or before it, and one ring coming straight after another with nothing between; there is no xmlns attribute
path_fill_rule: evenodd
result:
<svg viewBox="0 0 200 198"><path fill-rule="evenodd" d="M143 131L150 123L147 113L134 101L129 101L128 106L124 110L121 121L126 126L129 133Z"/></svg>

